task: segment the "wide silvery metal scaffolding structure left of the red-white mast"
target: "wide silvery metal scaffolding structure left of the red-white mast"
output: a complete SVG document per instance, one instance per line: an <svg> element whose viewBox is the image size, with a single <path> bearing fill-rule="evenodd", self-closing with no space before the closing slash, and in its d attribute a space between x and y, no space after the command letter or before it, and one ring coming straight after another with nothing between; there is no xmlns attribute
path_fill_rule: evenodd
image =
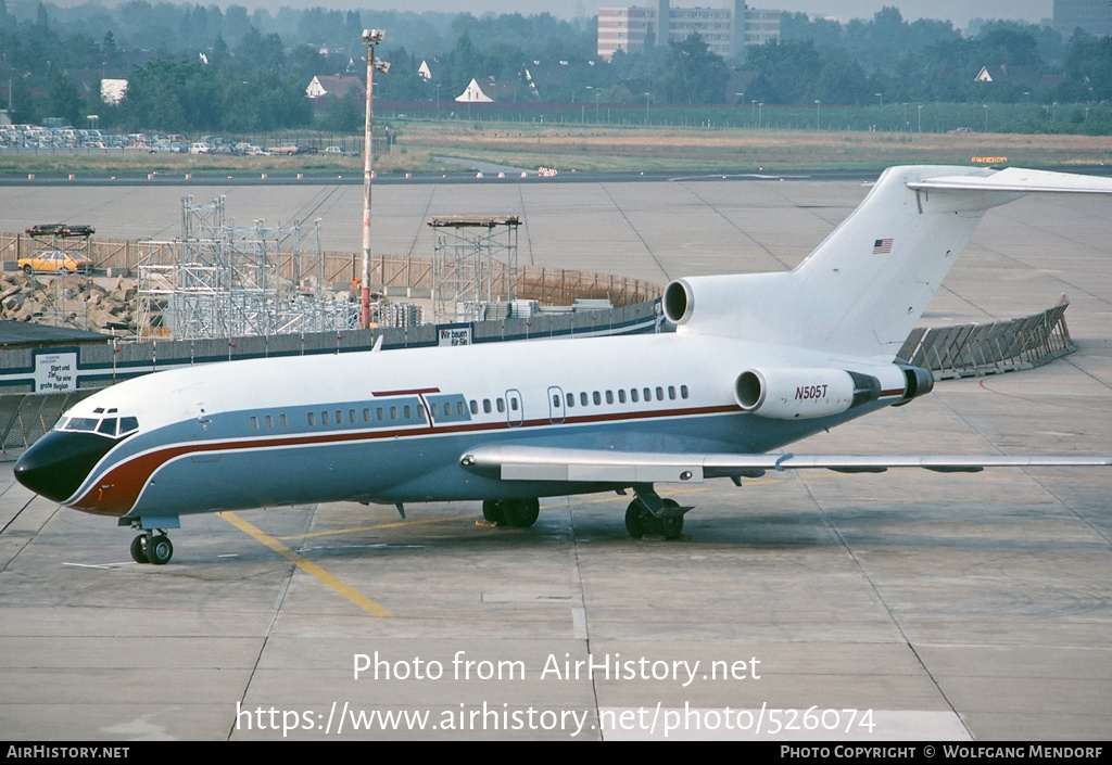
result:
<svg viewBox="0 0 1112 765"><path fill-rule="evenodd" d="M359 307L325 287L320 221L302 252L300 221L237 227L224 197L181 200L181 239L140 242L139 337L198 339L351 329Z"/></svg>

